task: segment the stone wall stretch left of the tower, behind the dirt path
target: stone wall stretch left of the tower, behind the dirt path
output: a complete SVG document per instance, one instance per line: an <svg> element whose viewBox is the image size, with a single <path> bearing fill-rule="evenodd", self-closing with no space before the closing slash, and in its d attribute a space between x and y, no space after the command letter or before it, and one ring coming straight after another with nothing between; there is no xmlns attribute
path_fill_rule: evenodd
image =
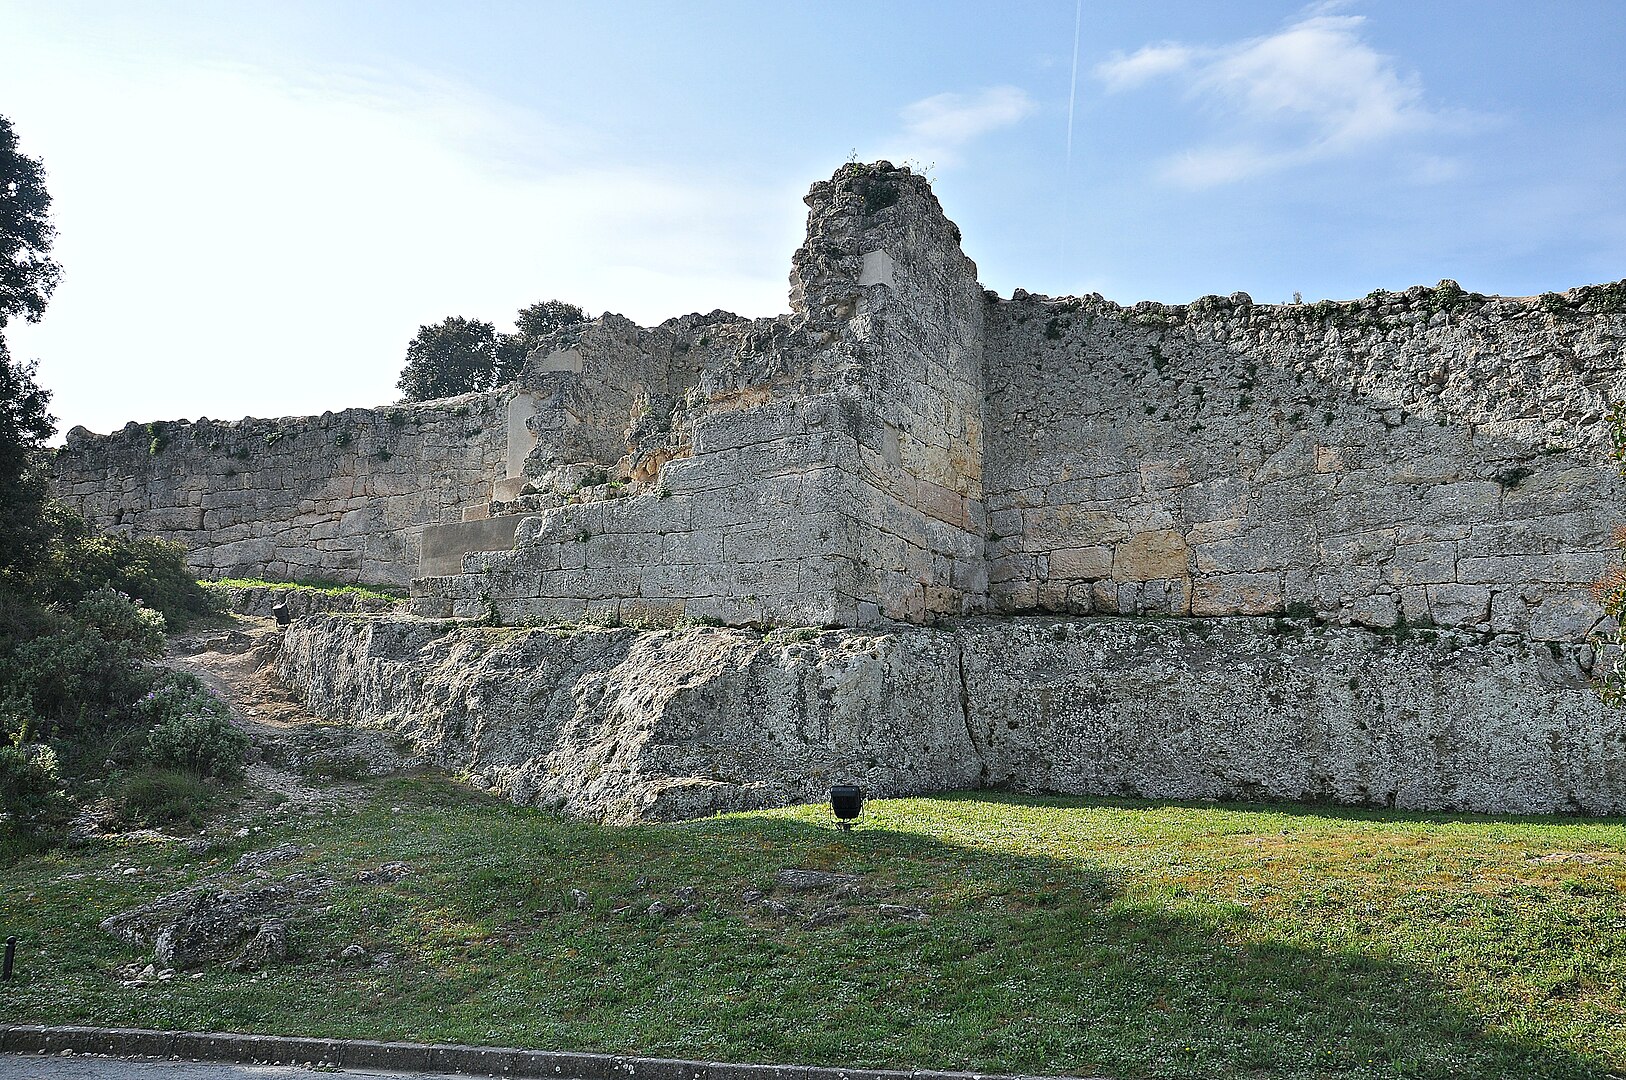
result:
<svg viewBox="0 0 1626 1080"><path fill-rule="evenodd" d="M106 527L179 540L210 577L406 586L418 533L491 498L502 395L320 416L75 428L55 494Z"/></svg>

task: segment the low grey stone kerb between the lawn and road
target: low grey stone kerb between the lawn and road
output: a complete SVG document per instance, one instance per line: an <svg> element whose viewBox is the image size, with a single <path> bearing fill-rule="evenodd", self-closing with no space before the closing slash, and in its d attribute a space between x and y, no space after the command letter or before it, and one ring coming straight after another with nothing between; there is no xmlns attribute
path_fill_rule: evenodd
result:
<svg viewBox="0 0 1626 1080"><path fill-rule="evenodd" d="M709 1060L522 1051L442 1043L304 1039L280 1034L211 1034L140 1028L0 1025L0 1054L104 1054L241 1064L324 1064L341 1069L462 1072L483 1077L569 1077L571 1080L1036 1080L930 1069L826 1069L741 1065Z"/></svg>

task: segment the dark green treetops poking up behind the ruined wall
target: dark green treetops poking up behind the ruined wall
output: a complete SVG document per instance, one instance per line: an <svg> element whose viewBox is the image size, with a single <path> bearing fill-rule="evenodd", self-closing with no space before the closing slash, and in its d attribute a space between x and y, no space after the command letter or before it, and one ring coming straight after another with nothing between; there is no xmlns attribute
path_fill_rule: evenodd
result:
<svg viewBox="0 0 1626 1080"><path fill-rule="evenodd" d="M455 316L418 327L395 385L405 402L489 390L517 379L525 355L550 335L585 320L587 312L576 304L545 299L519 311L514 333L499 333L489 322Z"/></svg>

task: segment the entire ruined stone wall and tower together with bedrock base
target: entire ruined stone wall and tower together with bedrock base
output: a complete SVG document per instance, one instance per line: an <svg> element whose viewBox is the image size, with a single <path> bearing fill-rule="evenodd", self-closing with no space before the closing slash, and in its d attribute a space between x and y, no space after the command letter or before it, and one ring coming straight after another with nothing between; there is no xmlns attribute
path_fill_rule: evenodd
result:
<svg viewBox="0 0 1626 1080"><path fill-rule="evenodd" d="M411 616L299 618L283 678L600 820L833 781L1626 810L1589 685L1626 283L1000 299L907 169L806 202L790 314L606 314L446 402L75 429L57 493L207 574L416 573Z"/></svg>

